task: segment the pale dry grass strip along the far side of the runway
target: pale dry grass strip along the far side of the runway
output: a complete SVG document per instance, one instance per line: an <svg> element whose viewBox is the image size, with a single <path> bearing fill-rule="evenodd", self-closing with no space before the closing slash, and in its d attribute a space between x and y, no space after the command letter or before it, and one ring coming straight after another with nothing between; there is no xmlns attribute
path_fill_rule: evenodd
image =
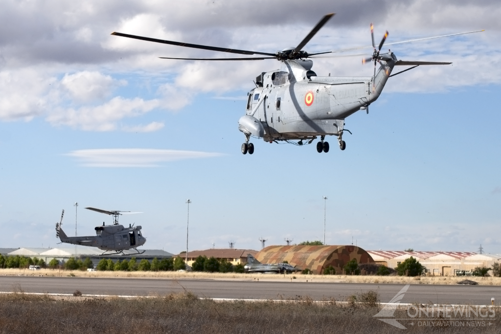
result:
<svg viewBox="0 0 501 334"><path fill-rule="evenodd" d="M339 283L375 283L375 284L456 284L464 279L471 279L479 285L501 285L501 277L471 277L471 276L351 276L351 275L303 275L303 274L237 274L209 272L177 272L177 271L81 271L41 269L0 269L0 275L23 276L77 276L77 277L136 277L136 278L212 278L212 279L259 279L262 281L306 281L309 282L339 282ZM293 279L296 277L296 279Z"/></svg>

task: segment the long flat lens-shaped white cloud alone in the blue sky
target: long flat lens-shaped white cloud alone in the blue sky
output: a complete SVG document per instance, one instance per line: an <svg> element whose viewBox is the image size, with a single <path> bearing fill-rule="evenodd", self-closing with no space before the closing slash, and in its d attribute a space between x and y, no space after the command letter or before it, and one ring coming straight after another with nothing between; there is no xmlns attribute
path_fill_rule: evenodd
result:
<svg viewBox="0 0 501 334"><path fill-rule="evenodd" d="M220 157L221 153L157 150L157 149L95 149L77 150L67 154L85 167L158 167L163 162Z"/></svg>

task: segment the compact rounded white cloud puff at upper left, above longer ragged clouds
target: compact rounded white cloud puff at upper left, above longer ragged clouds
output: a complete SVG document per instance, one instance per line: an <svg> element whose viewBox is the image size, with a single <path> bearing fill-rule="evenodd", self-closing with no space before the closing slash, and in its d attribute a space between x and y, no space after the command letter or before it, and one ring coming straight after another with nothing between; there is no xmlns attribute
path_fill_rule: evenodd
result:
<svg viewBox="0 0 501 334"><path fill-rule="evenodd" d="M103 100L111 94L113 88L126 84L125 80L114 80L97 71L65 74L61 79L61 85L68 90L73 99L79 102Z"/></svg>

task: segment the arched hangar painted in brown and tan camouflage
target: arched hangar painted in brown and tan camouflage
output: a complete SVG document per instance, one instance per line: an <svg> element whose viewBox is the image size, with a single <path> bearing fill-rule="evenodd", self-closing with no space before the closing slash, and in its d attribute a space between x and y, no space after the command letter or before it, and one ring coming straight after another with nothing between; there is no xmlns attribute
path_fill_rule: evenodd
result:
<svg viewBox="0 0 501 334"><path fill-rule="evenodd" d="M360 247L348 246L268 246L263 248L256 259L261 263L280 263L287 261L301 269L310 269L321 274L332 265L336 273L343 272L344 265L356 259L357 263L374 263L372 257Z"/></svg>

